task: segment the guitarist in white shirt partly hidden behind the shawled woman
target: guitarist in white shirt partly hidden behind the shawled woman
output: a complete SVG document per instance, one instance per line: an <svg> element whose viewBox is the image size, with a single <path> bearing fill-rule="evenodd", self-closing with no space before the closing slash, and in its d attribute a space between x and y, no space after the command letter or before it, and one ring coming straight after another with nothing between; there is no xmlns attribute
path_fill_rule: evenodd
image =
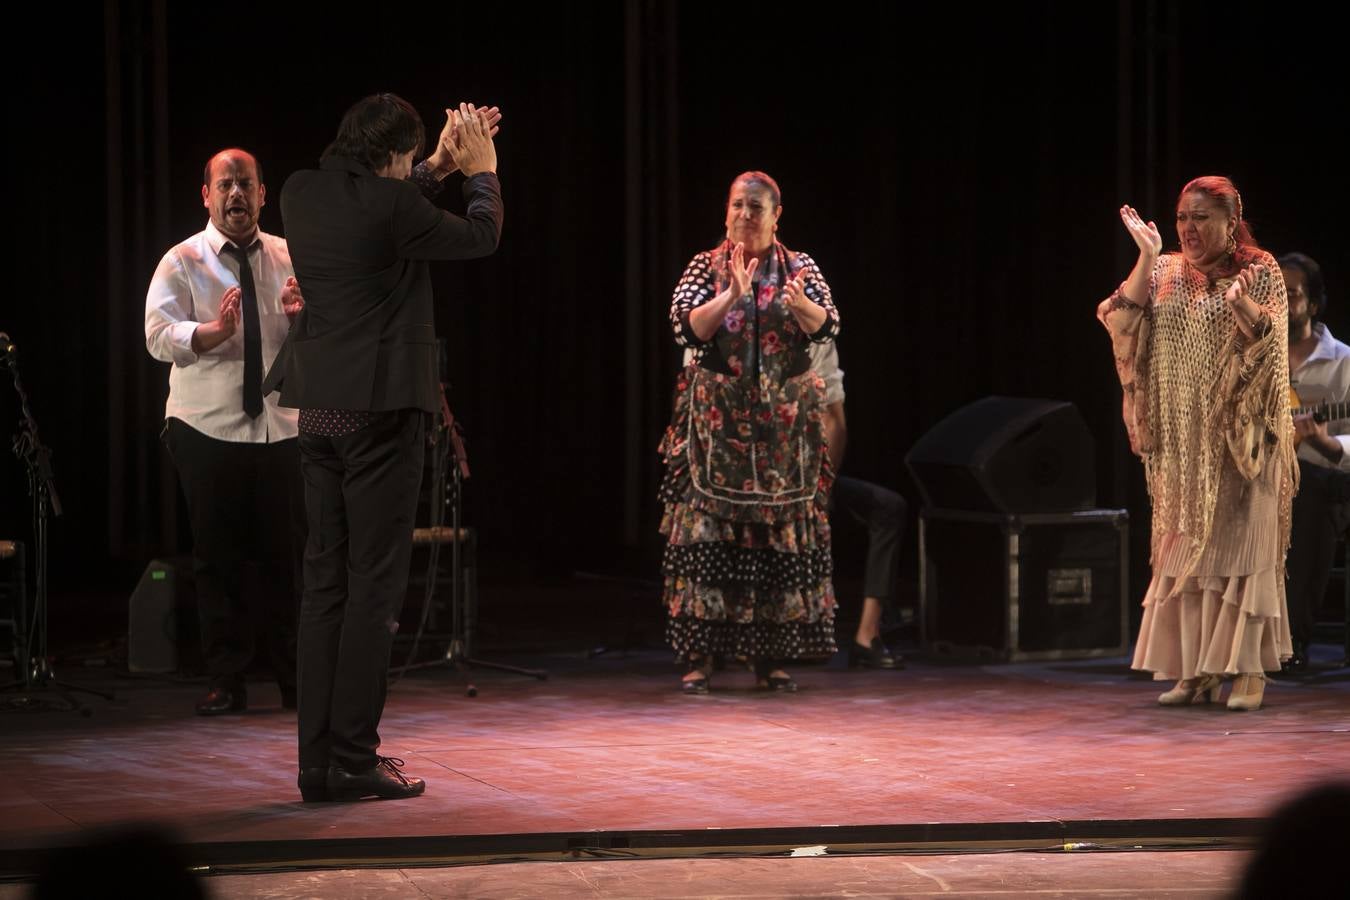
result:
<svg viewBox="0 0 1350 900"><path fill-rule="evenodd" d="M1293 499L1288 602L1293 656L1307 669L1314 610L1326 594L1336 537L1350 525L1350 347L1318 321L1327 312L1322 269L1304 254L1280 258L1289 297L1289 387L1303 483Z"/></svg>

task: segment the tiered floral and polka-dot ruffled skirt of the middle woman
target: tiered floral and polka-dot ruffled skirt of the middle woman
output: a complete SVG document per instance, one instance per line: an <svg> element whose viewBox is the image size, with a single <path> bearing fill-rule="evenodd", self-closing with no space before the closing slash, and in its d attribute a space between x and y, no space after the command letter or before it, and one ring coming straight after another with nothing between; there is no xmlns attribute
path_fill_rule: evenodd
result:
<svg viewBox="0 0 1350 900"><path fill-rule="evenodd" d="M757 389L680 375L660 447L662 600L679 660L834 653L822 410L814 372Z"/></svg>

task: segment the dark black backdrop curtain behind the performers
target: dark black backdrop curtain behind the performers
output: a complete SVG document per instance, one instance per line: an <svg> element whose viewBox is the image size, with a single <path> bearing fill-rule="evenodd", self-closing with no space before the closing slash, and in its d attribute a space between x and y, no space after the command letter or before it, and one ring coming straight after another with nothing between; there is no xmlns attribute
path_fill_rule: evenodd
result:
<svg viewBox="0 0 1350 900"><path fill-rule="evenodd" d="M779 235L815 256L842 314L845 470L917 501L903 455L950 410L1069 399L1096 436L1099 501L1130 507L1142 559L1146 495L1094 321L1133 260L1116 209L1174 246L1180 185L1228 174L1258 239L1319 259L1338 304L1343 81L1314 8L49 4L7 62L16 283L0 329L66 509L53 591L124 594L147 559L189 545L142 310L161 254L205 223L205 159L255 152L262 227L284 233L286 175L375 90L408 97L432 135L450 103L505 111L501 250L435 275L467 521L495 565L655 575L670 290L752 167L778 178ZM8 387L0 418L8 437ZM0 490L0 536L26 537L12 456Z"/></svg>

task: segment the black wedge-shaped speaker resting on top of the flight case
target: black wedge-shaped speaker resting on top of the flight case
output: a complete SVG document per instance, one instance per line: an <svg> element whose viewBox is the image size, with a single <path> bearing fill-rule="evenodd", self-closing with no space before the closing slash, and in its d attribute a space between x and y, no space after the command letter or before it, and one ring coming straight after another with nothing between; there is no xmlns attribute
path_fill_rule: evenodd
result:
<svg viewBox="0 0 1350 900"><path fill-rule="evenodd" d="M1096 506L1094 459L1073 403L986 397L929 429L905 463L929 507L1066 513Z"/></svg>

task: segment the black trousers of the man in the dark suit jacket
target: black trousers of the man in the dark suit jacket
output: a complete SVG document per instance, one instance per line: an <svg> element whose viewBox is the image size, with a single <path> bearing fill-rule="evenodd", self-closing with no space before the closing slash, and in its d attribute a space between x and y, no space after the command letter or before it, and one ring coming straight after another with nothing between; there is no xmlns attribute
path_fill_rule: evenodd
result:
<svg viewBox="0 0 1350 900"><path fill-rule="evenodd" d="M300 434L309 544L300 604L300 768L377 762L389 657L408 592L427 414L375 413Z"/></svg>

